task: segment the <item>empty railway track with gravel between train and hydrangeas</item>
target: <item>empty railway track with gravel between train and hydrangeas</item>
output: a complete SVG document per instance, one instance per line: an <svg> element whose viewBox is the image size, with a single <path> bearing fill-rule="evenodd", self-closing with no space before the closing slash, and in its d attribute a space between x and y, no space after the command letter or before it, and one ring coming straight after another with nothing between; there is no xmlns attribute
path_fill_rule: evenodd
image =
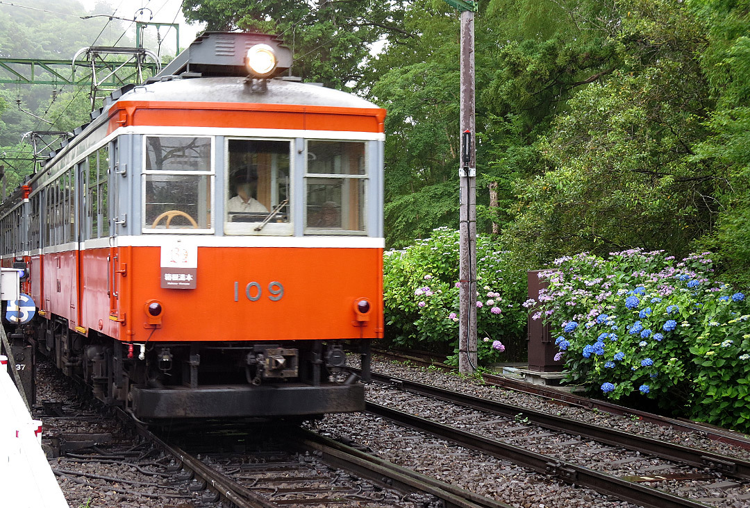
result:
<svg viewBox="0 0 750 508"><path fill-rule="evenodd" d="M373 378L384 384L368 390L372 414L529 471L645 507L750 504L746 460L389 375Z"/></svg>

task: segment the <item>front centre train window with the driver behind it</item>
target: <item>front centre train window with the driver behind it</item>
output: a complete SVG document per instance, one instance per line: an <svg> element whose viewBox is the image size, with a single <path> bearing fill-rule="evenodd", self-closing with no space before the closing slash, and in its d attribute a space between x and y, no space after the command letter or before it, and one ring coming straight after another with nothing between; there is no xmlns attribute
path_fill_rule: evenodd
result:
<svg viewBox="0 0 750 508"><path fill-rule="evenodd" d="M283 226L290 224L290 146L288 141L227 140L227 233L290 234Z"/></svg>

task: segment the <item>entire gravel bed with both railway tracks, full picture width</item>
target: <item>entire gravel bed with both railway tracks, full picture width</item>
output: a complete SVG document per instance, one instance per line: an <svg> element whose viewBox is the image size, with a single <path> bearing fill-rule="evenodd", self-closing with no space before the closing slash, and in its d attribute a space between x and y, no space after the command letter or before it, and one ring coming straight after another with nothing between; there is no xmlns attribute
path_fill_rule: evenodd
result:
<svg viewBox="0 0 750 508"><path fill-rule="evenodd" d="M376 381L385 384L368 387L369 399L382 399L368 402L371 414L326 417L333 425L324 420L315 432L174 425L154 436L125 414L113 420L95 411L95 401L73 396L37 411L46 414L56 474L97 492L98 507L736 508L750 500L748 465L736 458L664 444L655 450L616 429L392 375ZM596 441L587 432L597 432ZM485 472L479 483L476 469ZM559 499L526 492L542 484Z"/></svg>

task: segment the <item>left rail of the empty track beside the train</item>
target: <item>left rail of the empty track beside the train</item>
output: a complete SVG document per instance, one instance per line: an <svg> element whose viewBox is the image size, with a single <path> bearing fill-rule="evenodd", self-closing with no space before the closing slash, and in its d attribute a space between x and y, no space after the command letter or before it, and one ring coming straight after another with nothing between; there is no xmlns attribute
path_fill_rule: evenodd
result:
<svg viewBox="0 0 750 508"><path fill-rule="evenodd" d="M484 438L480 435L465 432L455 427L446 426L432 420L415 417L386 406L365 402L366 411L379 417L392 420L398 425L407 426L422 432L436 435L446 441L452 441L462 447L477 450L481 453L505 459L529 468L540 474L559 478L566 483L585 486L604 495L612 495L622 501L638 504L647 508L707 508L709 505L680 498L661 492L657 489L631 483L608 474L592 471L569 462L564 462L539 453L530 452L511 444Z"/></svg>

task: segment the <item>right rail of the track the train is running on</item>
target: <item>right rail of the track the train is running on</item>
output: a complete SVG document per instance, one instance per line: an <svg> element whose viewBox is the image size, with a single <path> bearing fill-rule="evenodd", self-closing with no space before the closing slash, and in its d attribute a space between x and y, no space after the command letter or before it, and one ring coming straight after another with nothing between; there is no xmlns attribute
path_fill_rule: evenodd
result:
<svg viewBox="0 0 750 508"><path fill-rule="evenodd" d="M376 483L386 483L389 487L402 492L408 492L410 489L426 492L443 501L441 506L445 508L511 508L508 504L460 489L460 487L427 477L411 469L402 468L315 432L305 429L299 429L296 432L297 435L294 438L299 444L320 452L323 462L336 468L353 471Z"/></svg>

